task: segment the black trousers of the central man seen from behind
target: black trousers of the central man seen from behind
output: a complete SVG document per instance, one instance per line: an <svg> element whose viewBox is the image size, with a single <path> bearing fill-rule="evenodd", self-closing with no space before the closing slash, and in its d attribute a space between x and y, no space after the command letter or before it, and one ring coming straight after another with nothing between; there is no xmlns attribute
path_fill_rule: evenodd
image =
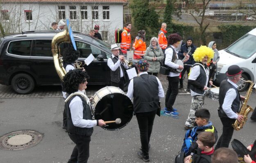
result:
<svg viewBox="0 0 256 163"><path fill-rule="evenodd" d="M140 143L144 156L148 156L148 143L150 142L156 110L152 112L136 113L136 118L140 129Z"/></svg>

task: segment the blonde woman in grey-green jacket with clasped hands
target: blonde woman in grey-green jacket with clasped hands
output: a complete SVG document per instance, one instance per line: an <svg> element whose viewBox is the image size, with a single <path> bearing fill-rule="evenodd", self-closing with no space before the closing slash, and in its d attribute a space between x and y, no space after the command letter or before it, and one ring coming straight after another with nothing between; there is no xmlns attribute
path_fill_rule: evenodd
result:
<svg viewBox="0 0 256 163"><path fill-rule="evenodd" d="M160 48L158 39L156 37L152 37L150 40L150 46L147 47L144 55L144 59L147 59L147 62L150 64L147 71L149 75L157 77L163 58L163 51Z"/></svg>

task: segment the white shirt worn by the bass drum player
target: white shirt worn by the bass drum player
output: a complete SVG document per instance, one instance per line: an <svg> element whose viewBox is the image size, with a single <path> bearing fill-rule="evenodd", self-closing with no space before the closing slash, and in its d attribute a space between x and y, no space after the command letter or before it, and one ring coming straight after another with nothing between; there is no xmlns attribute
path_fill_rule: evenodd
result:
<svg viewBox="0 0 256 163"><path fill-rule="evenodd" d="M78 92L84 93L78 90ZM76 96L70 101L69 104L71 118L74 126L81 128L92 128L97 125L97 120L83 119L83 101L80 97Z"/></svg>

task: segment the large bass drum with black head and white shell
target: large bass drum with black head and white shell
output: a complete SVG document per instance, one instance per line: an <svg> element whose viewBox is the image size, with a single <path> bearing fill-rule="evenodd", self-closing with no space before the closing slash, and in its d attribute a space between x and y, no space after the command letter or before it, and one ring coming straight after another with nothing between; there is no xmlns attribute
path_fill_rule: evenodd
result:
<svg viewBox="0 0 256 163"><path fill-rule="evenodd" d="M95 119L114 121L121 119L120 124L108 123L102 127L105 130L119 130L125 127L133 116L133 104L131 99L117 87L106 86L98 90L93 96L92 107Z"/></svg>

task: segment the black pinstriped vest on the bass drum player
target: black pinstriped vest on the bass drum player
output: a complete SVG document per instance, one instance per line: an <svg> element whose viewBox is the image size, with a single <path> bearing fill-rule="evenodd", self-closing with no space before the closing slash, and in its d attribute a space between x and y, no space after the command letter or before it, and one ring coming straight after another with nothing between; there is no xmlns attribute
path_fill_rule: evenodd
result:
<svg viewBox="0 0 256 163"><path fill-rule="evenodd" d="M92 120L92 112L90 106L86 103L85 99L80 95L75 95L71 97L68 102L65 103L65 109L67 114L67 123L66 123L66 129L70 134L76 134L76 135L83 135L90 137L93 134L93 128L80 128L74 126L71 118L71 112L69 108L69 104L76 96L80 97L80 99L83 101L83 119Z"/></svg>

